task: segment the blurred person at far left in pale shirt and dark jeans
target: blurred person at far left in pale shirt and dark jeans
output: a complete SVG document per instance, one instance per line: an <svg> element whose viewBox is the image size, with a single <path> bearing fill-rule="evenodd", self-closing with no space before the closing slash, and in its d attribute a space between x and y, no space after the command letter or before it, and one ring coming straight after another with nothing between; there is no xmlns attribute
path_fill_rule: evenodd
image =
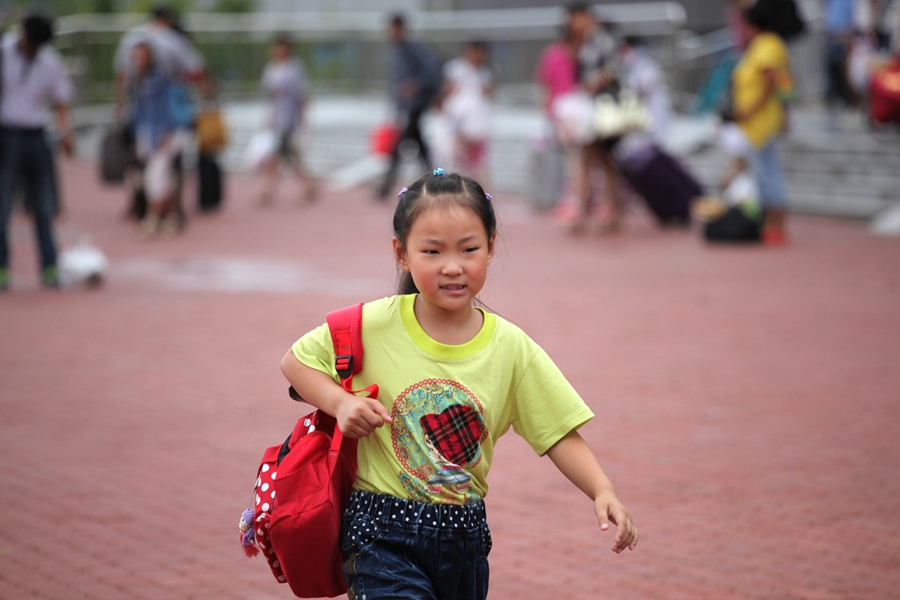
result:
<svg viewBox="0 0 900 600"><path fill-rule="evenodd" d="M7 226L19 186L31 208L40 250L41 283L57 287L53 155L46 137L47 109L56 113L60 144L71 155L74 142L68 104L72 82L59 54L49 46L53 22L41 14L22 21L18 36L0 42L0 290L9 287Z"/></svg>

